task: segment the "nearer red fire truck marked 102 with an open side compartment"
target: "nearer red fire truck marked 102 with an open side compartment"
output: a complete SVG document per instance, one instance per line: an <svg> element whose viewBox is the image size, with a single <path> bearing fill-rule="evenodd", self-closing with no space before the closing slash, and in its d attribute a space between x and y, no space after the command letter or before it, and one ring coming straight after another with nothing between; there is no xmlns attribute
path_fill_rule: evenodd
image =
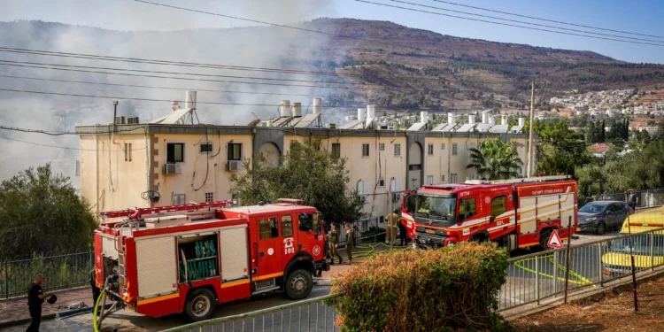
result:
<svg viewBox="0 0 664 332"><path fill-rule="evenodd" d="M313 275L329 269L320 212L296 199L231 203L102 213L126 219L95 231L97 287L136 313L183 313L194 321L252 294L307 297Z"/></svg>

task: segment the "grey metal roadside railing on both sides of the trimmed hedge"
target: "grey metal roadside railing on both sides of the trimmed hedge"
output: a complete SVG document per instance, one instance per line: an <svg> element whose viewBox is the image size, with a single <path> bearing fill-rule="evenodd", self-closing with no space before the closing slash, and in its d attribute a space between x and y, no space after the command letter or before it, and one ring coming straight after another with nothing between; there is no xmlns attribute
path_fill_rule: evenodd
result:
<svg viewBox="0 0 664 332"><path fill-rule="evenodd" d="M579 245L573 243L569 250L568 293L629 277L630 240L637 273L664 265L664 228ZM498 294L499 311L564 296L567 248L515 257L509 259L509 264L506 283ZM166 331L338 331L335 309L323 303L338 296L317 297Z"/></svg>

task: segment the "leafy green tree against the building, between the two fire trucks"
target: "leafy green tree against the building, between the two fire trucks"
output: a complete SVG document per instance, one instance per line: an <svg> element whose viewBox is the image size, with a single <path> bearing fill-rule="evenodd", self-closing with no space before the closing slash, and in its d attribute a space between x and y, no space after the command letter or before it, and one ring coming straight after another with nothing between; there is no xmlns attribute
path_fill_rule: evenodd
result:
<svg viewBox="0 0 664 332"><path fill-rule="evenodd" d="M253 165L251 160L244 160L245 173L231 175L230 192L240 198L242 205L297 198L318 208L328 222L358 220L364 203L357 190L348 189L346 160L318 149L319 146L320 141L293 142L278 166L259 152Z"/></svg>

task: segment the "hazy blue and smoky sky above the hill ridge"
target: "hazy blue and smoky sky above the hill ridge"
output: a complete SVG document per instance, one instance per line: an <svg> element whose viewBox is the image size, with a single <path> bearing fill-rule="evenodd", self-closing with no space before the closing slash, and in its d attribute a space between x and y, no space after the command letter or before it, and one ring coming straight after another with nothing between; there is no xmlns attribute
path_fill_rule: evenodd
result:
<svg viewBox="0 0 664 332"><path fill-rule="evenodd" d="M289 17L289 15L280 11L279 9L281 9L283 0L153 1L275 23L290 23L294 19L302 19ZM399 4L390 0L370 1L409 6L408 4ZM442 4L434 0L404 1L462 12L476 12L484 15L499 16L506 19L528 20L498 13L477 11L452 4ZM661 0L452 0L452 2L544 19L560 20L585 26L604 27L644 35L661 36L661 38L656 38L628 35L634 38L659 40L663 46L612 42L580 36L532 31L517 27L502 27L489 23L467 21L465 19L380 7L375 4L364 4L354 0L290 0L289 2L290 4L296 3L300 6L311 7L312 16L307 19L328 16L390 20L407 27L418 27L445 35L481 38L497 42L526 43L561 49L592 50L620 60L664 63L664 1ZM241 5L238 6L238 4ZM0 0L0 8L3 8L3 11L0 12L0 20L4 21L14 19L42 19L117 30L172 30L192 27L236 27L247 24L236 19L159 8L151 4L136 3L132 0ZM420 9L436 11L435 9ZM453 12L448 13L465 16ZM529 21L554 25L550 22ZM567 27L590 30L597 33L616 34L583 27Z"/></svg>

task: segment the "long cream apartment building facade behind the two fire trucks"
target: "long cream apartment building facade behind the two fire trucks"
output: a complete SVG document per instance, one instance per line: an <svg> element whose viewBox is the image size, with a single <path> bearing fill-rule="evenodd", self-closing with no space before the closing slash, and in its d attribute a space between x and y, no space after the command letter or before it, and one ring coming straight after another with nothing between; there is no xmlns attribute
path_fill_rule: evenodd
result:
<svg viewBox="0 0 664 332"><path fill-rule="evenodd" d="M508 133L153 123L76 130L81 196L97 213L234 199L228 178L243 172L243 160L262 151L278 163L292 141L318 138L321 149L346 158L349 189L365 197L369 216L384 216L390 202L400 205L404 190L475 179L469 149L484 140L513 142L523 175L528 154L528 135Z"/></svg>

